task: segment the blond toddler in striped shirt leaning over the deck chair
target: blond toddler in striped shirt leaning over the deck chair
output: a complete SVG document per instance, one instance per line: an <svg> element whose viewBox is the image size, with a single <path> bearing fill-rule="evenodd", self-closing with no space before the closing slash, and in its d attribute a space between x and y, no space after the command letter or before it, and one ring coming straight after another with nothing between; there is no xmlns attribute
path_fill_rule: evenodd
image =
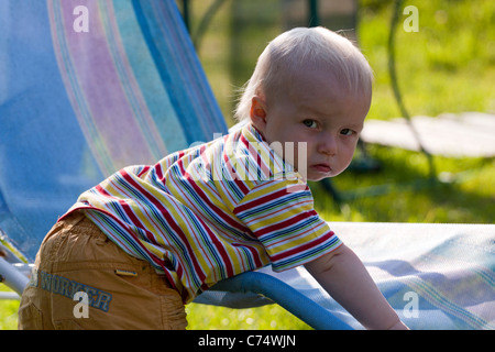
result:
<svg viewBox="0 0 495 352"><path fill-rule="evenodd" d="M185 329L185 304L271 264L305 265L365 328L406 329L307 186L349 166L371 90L372 70L346 38L323 28L276 37L239 102L242 128L117 172L59 219L19 327ZM86 312L75 311L78 292Z"/></svg>

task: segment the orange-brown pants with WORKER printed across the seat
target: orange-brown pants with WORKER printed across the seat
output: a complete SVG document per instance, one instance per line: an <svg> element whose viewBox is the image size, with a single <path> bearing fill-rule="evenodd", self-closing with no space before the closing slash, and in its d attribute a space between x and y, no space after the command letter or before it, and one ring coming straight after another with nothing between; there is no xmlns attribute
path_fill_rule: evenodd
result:
<svg viewBox="0 0 495 352"><path fill-rule="evenodd" d="M150 263L128 255L76 212L36 255L19 329L166 329L187 326L179 294Z"/></svg>

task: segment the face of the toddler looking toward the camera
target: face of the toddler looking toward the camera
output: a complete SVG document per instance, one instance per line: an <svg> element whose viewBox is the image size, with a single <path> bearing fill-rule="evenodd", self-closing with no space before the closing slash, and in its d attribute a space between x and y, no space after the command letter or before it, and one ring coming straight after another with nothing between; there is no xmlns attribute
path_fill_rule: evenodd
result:
<svg viewBox="0 0 495 352"><path fill-rule="evenodd" d="M337 176L352 161L370 98L346 94L331 75L316 69L296 77L273 97L253 98L251 121L268 144L282 144L284 160L307 179Z"/></svg>

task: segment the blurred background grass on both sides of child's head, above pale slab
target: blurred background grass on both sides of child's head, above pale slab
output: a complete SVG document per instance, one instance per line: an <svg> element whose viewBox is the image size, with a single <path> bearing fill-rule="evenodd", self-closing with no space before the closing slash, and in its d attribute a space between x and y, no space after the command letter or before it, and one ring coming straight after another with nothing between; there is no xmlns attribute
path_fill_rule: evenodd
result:
<svg viewBox="0 0 495 352"><path fill-rule="evenodd" d="M212 2L195 4L193 33L194 23ZM274 3L277 1L226 0L201 36L198 52L229 122L237 88L251 76L266 43L283 31L282 11ZM375 73L369 119L400 116L388 75L392 4L392 0L360 1L358 44ZM396 28L397 76L408 112L436 117L495 111L495 2L404 1L406 6L416 6L419 13L419 32L403 30L407 18L403 14Z"/></svg>

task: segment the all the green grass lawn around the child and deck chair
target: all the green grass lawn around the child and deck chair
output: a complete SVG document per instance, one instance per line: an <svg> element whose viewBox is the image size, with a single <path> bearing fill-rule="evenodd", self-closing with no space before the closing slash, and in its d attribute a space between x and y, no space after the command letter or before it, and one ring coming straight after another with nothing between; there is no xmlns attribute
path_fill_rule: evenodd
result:
<svg viewBox="0 0 495 352"><path fill-rule="evenodd" d="M321 0L323 1L323 0ZM193 2L195 23L213 0ZM229 124L237 89L250 77L257 55L282 31L276 1L226 0L201 36L199 56ZM399 110L387 68L392 1L361 0L359 45L375 72L369 119L393 119ZM419 32L396 32L398 84L411 116L495 111L495 1L421 0ZM275 9L275 10L274 10ZM406 19L402 15L400 19ZM242 26L240 25L242 23ZM324 24L324 23L323 23ZM369 145L377 173L348 170L332 180L342 202L311 184L315 207L329 221L494 223L495 160L435 157ZM0 329L15 329L18 301L0 301ZM188 305L189 329L308 329L278 306L228 309Z"/></svg>

